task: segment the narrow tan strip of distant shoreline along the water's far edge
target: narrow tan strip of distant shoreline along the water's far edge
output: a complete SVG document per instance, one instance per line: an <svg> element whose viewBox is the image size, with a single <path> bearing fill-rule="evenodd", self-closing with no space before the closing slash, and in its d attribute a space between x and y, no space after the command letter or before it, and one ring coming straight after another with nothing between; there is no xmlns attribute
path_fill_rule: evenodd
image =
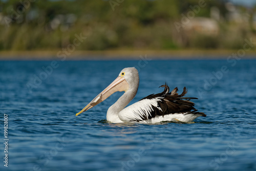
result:
<svg viewBox="0 0 256 171"><path fill-rule="evenodd" d="M0 60L51 60L61 59L60 50L46 51L0 51ZM140 59L225 59L239 50L106 50L74 51L65 55L65 60L117 60ZM256 50L246 52L242 59L256 58Z"/></svg>

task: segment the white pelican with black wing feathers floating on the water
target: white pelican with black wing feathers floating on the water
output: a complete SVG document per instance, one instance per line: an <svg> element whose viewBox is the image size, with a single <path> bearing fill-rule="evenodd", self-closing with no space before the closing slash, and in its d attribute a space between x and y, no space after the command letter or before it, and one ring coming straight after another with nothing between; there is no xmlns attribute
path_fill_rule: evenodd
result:
<svg viewBox="0 0 256 171"><path fill-rule="evenodd" d="M190 99L195 97L183 97L187 93L186 87L179 95L176 87L169 93L169 87L165 83L164 91L158 94L151 94L138 102L127 106L135 97L139 87L139 73L134 67L124 68L118 77L99 95L97 95L85 108L79 113L85 112L93 106L104 101L113 93L124 91L124 94L110 106L106 113L106 120L112 123L121 122L144 122L159 123L162 121L180 121L191 122L199 116L206 116L202 112L197 112L194 108L195 103Z"/></svg>

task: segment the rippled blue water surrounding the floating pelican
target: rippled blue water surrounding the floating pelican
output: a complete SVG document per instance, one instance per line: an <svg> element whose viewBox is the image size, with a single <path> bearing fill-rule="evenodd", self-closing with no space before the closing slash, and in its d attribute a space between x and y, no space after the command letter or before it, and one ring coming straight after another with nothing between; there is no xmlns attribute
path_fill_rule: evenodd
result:
<svg viewBox="0 0 256 171"><path fill-rule="evenodd" d="M256 170L256 60L53 61L44 73L51 62L0 61L1 170ZM162 92L166 81L179 93L187 87L207 117L108 123L121 92L75 116L132 66L140 86L131 103Z"/></svg>

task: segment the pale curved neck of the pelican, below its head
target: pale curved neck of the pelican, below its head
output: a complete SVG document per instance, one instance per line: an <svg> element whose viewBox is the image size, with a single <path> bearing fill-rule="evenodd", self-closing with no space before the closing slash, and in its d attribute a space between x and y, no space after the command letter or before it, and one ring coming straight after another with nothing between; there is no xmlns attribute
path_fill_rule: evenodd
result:
<svg viewBox="0 0 256 171"><path fill-rule="evenodd" d="M113 123L123 122L119 119L118 114L128 105L137 93L138 87L127 90L112 106L110 106L106 113L106 120Z"/></svg>

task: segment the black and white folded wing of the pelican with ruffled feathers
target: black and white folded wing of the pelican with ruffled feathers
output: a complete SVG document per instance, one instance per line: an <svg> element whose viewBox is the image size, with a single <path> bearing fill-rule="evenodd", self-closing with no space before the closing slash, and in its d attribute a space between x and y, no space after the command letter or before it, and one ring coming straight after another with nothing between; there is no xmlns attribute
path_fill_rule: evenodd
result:
<svg viewBox="0 0 256 171"><path fill-rule="evenodd" d="M202 112L196 112L197 110L194 108L195 103L189 101L190 99L197 98L183 97L187 93L185 87L180 95L177 93L178 88L169 93L167 84L160 87L164 87L162 93L149 95L128 106L119 113L119 118L125 122L139 122L168 114L199 114L206 116Z"/></svg>

